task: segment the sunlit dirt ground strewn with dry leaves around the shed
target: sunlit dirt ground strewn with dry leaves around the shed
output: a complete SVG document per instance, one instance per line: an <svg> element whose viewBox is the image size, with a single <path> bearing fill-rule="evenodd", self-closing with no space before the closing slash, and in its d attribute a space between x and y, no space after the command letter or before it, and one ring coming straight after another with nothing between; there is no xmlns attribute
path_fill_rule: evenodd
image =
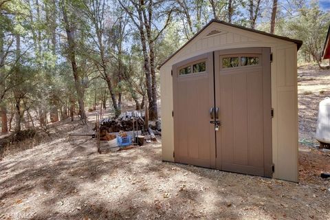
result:
<svg viewBox="0 0 330 220"><path fill-rule="evenodd" d="M329 71L313 71L299 73L306 143L313 142L317 103L325 95L319 90L330 91L321 84L321 78L330 82ZM0 219L330 219L330 180L320 178L330 172L330 153L308 144L300 145L295 184L162 162L160 137L100 155L95 140L68 136L92 127L58 122L50 140L2 159Z"/></svg>

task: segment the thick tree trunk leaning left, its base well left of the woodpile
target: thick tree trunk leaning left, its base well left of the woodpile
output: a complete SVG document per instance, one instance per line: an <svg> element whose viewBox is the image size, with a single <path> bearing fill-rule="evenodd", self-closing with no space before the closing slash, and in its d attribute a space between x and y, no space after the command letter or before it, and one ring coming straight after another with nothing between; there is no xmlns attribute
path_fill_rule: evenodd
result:
<svg viewBox="0 0 330 220"><path fill-rule="evenodd" d="M86 124L86 113L85 113L85 103L84 103L84 92L83 87L81 86L80 77L78 73L78 67L76 63L76 44L74 41L74 32L69 23L69 19L67 18L67 9L65 5L65 0L62 0L62 12L63 12L63 20L65 23L65 32L67 33L67 43L69 45L69 61L71 61L72 71L74 72L74 85L76 87L77 96L78 96L78 105L81 120Z"/></svg>

